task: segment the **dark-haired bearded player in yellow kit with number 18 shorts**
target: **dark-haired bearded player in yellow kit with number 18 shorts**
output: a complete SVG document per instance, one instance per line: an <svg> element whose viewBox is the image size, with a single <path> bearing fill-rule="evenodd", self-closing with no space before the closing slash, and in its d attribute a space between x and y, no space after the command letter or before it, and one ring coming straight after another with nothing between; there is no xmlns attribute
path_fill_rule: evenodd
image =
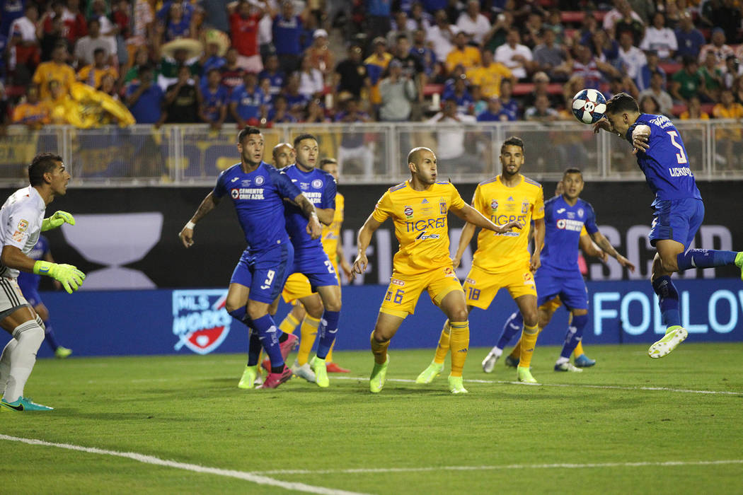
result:
<svg viewBox="0 0 743 495"><path fill-rule="evenodd" d="M472 269L464 281L467 312L473 307L487 309L499 289L508 289L524 317L518 378L519 381L536 383L529 366L539 333L533 272L541 264L539 252L545 240L544 193L539 183L519 174L524 164L524 142L521 139L509 137L505 140L501 145L500 160L502 174L478 184L472 206L494 223L518 221L529 225L533 220L534 254L529 254L529 229L496 234L482 230L477 237ZM462 229L454 257L455 267L459 265L474 233L473 223L467 223ZM450 347L450 326L450 321L444 324L435 357L415 380L416 383L430 383L444 368L444 358Z"/></svg>

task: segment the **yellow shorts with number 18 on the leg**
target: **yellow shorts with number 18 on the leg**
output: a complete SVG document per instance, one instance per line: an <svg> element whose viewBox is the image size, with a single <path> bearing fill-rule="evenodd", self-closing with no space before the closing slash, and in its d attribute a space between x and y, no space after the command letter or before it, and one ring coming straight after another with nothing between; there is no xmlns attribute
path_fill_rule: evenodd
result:
<svg viewBox="0 0 743 495"><path fill-rule="evenodd" d="M490 273L477 266L472 266L467 278L464 279L464 295L467 296L467 305L480 309L487 309L499 289L506 288L512 298L522 295L536 297L534 275L528 263L510 272Z"/></svg>

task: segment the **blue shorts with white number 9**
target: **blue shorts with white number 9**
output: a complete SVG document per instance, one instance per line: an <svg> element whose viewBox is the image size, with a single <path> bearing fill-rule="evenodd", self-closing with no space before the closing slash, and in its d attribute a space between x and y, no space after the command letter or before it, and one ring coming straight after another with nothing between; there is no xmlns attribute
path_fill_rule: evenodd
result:
<svg viewBox="0 0 743 495"><path fill-rule="evenodd" d="M271 304L284 289L293 259L294 247L288 240L261 252L245 249L230 283L248 287L248 299Z"/></svg>

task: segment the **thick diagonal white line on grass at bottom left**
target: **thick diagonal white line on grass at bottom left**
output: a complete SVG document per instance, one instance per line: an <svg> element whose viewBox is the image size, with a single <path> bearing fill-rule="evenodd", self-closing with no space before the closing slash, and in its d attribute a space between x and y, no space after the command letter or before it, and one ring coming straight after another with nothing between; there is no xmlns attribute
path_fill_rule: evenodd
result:
<svg viewBox="0 0 743 495"><path fill-rule="evenodd" d="M0 440L7 440L8 442L22 442L28 445L42 445L44 447L77 450L78 452L95 453L100 456L125 457L126 459L143 462L144 464L164 466L166 468L183 469L184 471L192 471L193 473L215 474L217 476L227 476L230 478L244 479L245 481L256 483L257 485L275 486L278 488L285 488L286 490L303 491L308 494L360 495L358 492L354 491L334 490L333 488L306 485L305 483L299 482L284 482L279 479L269 478L260 474L247 473L245 471L233 471L228 469L207 468L206 466L200 466L198 464L186 464L185 462L169 461L166 459L160 459L159 457L147 456L145 454L136 452L117 452L116 450L81 447L80 445L59 444L53 442L45 442L44 440L37 439L23 439L17 436L3 435L1 433Z"/></svg>

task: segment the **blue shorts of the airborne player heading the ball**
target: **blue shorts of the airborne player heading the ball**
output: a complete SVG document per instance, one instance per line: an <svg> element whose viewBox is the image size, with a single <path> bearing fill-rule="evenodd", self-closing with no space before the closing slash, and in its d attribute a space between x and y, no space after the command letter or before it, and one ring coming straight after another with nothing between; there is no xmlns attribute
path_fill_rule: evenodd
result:
<svg viewBox="0 0 743 495"><path fill-rule="evenodd" d="M682 200L661 200L655 203L652 227L650 227L650 244L655 246L658 240L672 239L684 244L684 251L689 249L696 232L704 220L704 203L693 197Z"/></svg>

